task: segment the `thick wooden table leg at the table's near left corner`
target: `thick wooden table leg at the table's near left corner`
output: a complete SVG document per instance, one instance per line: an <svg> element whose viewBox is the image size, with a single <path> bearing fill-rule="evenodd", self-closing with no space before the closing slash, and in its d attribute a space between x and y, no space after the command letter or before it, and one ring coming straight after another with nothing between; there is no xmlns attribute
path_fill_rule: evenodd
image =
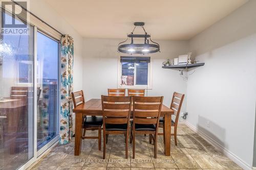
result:
<svg viewBox="0 0 256 170"><path fill-rule="evenodd" d="M76 113L75 123L75 156L80 155L82 145L82 114Z"/></svg>

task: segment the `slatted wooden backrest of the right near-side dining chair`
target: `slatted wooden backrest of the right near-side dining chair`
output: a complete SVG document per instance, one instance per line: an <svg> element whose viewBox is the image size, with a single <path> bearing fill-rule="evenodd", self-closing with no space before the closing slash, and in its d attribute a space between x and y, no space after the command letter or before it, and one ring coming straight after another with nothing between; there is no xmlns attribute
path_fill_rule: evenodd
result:
<svg viewBox="0 0 256 170"><path fill-rule="evenodd" d="M159 124L163 96L133 96L133 124Z"/></svg>

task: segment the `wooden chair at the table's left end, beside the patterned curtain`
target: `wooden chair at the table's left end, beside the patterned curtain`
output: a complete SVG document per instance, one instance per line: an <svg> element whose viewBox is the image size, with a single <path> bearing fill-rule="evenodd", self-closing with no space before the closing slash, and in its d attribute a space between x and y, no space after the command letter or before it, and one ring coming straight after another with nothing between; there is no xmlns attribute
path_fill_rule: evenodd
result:
<svg viewBox="0 0 256 170"><path fill-rule="evenodd" d="M74 107L84 103L83 90L72 92ZM98 139L98 148L101 150L101 126L103 123L102 116L85 116L83 118L82 139ZM87 130L98 130L98 136L86 136Z"/></svg>

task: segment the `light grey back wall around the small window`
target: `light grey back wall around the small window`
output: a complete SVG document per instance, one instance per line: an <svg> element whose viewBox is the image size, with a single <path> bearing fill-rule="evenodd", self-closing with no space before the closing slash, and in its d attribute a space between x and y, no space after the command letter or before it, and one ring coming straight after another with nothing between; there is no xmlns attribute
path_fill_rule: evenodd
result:
<svg viewBox="0 0 256 170"><path fill-rule="evenodd" d="M124 35L125 36L125 35ZM83 39L83 90L86 100L100 98L107 94L108 88L117 88L117 71L120 56L117 45L122 39ZM187 41L158 40L161 53L150 54L153 63L153 88L147 91L148 96L164 95L164 104L169 106L174 91L186 93L186 83L177 70L163 69L162 62L186 54ZM183 103L182 111L185 111Z"/></svg>

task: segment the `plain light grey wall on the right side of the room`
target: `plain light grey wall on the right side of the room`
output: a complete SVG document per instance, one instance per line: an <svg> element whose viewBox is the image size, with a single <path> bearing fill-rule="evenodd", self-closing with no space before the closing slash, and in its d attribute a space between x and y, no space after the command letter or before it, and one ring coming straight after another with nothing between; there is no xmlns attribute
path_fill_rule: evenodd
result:
<svg viewBox="0 0 256 170"><path fill-rule="evenodd" d="M249 1L189 41L205 66L187 82L187 123L247 169L255 120L255 11L256 1Z"/></svg>

